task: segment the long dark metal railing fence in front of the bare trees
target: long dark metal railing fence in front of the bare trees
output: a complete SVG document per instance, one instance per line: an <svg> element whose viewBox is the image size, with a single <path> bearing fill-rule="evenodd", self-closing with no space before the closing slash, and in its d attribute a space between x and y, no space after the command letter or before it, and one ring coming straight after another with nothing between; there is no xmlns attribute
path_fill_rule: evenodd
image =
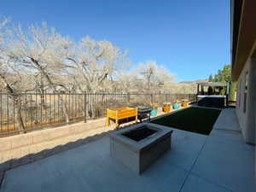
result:
<svg viewBox="0 0 256 192"><path fill-rule="evenodd" d="M136 93L21 93L11 95L0 90L0 136L106 115L107 108L150 105L187 99L195 94Z"/></svg>

